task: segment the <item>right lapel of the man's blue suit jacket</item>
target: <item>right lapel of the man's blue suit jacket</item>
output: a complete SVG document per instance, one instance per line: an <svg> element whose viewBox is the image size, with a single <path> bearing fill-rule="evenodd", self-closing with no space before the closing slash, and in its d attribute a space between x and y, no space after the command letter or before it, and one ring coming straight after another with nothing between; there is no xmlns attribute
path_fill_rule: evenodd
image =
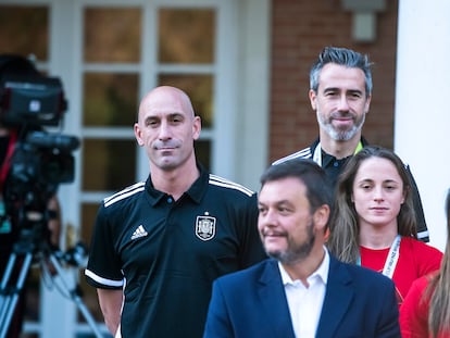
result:
<svg viewBox="0 0 450 338"><path fill-rule="evenodd" d="M330 256L328 280L316 337L335 336L353 297L350 275L342 264Z"/></svg>

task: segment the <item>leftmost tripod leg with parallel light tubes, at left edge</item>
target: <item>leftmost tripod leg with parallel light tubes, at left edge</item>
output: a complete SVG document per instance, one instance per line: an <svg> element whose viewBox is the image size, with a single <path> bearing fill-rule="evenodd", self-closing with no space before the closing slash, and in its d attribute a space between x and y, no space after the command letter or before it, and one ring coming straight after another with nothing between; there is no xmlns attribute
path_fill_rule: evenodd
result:
<svg viewBox="0 0 450 338"><path fill-rule="evenodd" d="M1 301L0 301L0 338L7 336L11 318L14 314L15 305L17 303L18 296L25 284L26 276L28 274L29 265L32 264L33 254L30 252L25 254L24 262L18 274L17 281L13 289L8 289L8 283L11 279L11 275L14 270L16 261L16 254L12 253L7 265L5 273L1 281ZM20 264L20 263L18 263Z"/></svg>

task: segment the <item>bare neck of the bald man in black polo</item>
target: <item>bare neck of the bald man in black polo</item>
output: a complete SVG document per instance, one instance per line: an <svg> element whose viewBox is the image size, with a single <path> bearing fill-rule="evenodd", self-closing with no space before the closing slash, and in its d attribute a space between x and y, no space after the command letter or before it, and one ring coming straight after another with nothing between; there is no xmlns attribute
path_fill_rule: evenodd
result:
<svg viewBox="0 0 450 338"><path fill-rule="evenodd" d="M200 176L195 161L188 161L183 166L172 171L163 171L151 166L150 173L153 187L171 195L175 200L178 200L183 193L189 190L190 186Z"/></svg>

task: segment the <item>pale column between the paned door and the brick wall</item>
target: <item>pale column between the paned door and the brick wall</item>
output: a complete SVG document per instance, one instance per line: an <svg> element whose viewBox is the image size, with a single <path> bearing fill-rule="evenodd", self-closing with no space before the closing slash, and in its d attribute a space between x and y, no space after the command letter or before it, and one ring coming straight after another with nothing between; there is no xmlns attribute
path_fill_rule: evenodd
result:
<svg viewBox="0 0 450 338"><path fill-rule="evenodd" d="M237 1L241 47L236 179L258 191L267 166L270 126L271 5L268 0Z"/></svg>

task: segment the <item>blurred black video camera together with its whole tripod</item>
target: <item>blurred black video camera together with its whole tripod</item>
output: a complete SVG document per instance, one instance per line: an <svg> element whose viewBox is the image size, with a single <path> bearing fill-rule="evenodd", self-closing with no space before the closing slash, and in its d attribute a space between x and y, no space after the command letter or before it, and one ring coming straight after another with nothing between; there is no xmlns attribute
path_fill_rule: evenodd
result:
<svg viewBox="0 0 450 338"><path fill-rule="evenodd" d="M61 274L60 261L78 267L87 248L78 242L62 252L50 243L49 221L55 212L49 210L49 203L60 184L74 180L72 152L78 148L79 140L45 128L58 126L66 109L59 78L42 76L32 62L20 55L0 55L0 133L8 136L8 145L3 143L3 137L0 145L1 157L4 154L0 159L0 235L4 235L0 243L7 247L12 243L4 272L0 271L2 338L7 337L14 315L21 321L15 308L33 259L41 263L42 271L52 279L54 274L60 275L61 286L66 289L64 296L68 295L78 305L96 337L102 337L80 299L79 287L70 289Z"/></svg>

